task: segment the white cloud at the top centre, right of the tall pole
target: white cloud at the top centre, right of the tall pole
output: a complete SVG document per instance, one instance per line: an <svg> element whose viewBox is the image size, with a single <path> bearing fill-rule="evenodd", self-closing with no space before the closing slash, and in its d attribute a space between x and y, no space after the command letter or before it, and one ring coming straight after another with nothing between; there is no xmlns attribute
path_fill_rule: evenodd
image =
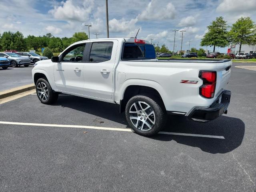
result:
<svg viewBox="0 0 256 192"><path fill-rule="evenodd" d="M142 11L138 15L139 20L162 20L162 19L174 19L175 7L169 2L166 4L160 3L158 0L151 0L146 7L146 10Z"/></svg>

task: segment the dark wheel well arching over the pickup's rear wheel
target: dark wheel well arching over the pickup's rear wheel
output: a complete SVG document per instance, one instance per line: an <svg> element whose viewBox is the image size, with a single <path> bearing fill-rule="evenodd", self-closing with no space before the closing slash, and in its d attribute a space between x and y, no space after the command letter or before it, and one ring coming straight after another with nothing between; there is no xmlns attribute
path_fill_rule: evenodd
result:
<svg viewBox="0 0 256 192"><path fill-rule="evenodd" d="M138 94L153 94L163 102L162 97L156 89L147 86L130 85L126 88L123 99L120 100L120 113L124 112L128 100Z"/></svg>

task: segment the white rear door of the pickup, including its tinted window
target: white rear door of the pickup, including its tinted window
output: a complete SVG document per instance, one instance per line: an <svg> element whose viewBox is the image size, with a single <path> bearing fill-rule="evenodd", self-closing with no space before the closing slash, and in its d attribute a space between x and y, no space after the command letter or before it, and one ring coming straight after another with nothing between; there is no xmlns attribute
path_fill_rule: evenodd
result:
<svg viewBox="0 0 256 192"><path fill-rule="evenodd" d="M94 41L86 46L84 90L88 96L110 100L118 40Z"/></svg>

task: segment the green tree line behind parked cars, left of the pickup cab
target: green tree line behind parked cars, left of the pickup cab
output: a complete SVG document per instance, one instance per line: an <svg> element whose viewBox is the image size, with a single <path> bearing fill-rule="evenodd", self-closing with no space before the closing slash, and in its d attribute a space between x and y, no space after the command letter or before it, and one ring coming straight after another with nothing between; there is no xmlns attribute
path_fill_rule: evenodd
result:
<svg viewBox="0 0 256 192"><path fill-rule="evenodd" d="M48 33L44 36L29 35L24 38L23 34L19 31L10 32L6 31L0 34L0 50L17 50L17 51L29 51L36 50L41 52L41 48L50 48L52 52L62 52L70 44L87 40L88 36L85 32L76 32L72 37L54 37Z"/></svg>

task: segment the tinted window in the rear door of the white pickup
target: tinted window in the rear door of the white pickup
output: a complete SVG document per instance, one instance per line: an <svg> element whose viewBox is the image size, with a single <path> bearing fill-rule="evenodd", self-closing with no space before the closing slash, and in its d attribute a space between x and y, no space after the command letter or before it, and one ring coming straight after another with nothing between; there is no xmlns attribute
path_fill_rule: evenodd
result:
<svg viewBox="0 0 256 192"><path fill-rule="evenodd" d="M90 51L90 62L104 62L111 59L113 42L92 43Z"/></svg>

